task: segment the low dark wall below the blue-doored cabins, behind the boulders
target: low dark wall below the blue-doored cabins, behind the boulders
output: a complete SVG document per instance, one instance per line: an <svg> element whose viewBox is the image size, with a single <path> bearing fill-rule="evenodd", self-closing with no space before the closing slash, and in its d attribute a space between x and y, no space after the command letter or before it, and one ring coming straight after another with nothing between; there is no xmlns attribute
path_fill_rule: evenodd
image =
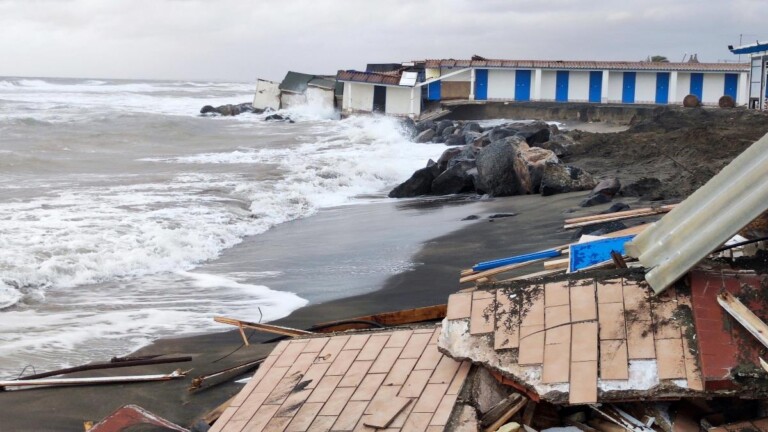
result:
<svg viewBox="0 0 768 432"><path fill-rule="evenodd" d="M628 125L651 117L656 110L668 109L656 105L600 105L555 102L470 102L444 104L451 110L450 120L537 119L606 122Z"/></svg>

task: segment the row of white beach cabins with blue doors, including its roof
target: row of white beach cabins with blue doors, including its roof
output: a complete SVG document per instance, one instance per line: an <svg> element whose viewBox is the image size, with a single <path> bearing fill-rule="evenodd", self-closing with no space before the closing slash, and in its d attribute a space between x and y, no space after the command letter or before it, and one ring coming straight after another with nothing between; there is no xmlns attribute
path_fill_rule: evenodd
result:
<svg viewBox="0 0 768 432"><path fill-rule="evenodd" d="M397 65L395 65L397 66ZM427 60L387 72L339 71L342 114L418 118L430 101L682 104L748 102L749 64L608 61ZM482 102L473 102L482 103Z"/></svg>

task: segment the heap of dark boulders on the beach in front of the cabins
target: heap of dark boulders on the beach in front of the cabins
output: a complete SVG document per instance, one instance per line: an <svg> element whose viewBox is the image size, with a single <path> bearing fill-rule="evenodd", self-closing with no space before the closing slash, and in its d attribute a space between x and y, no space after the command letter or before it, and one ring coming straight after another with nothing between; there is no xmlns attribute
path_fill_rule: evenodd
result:
<svg viewBox="0 0 768 432"><path fill-rule="evenodd" d="M573 140L554 125L535 121L483 128L476 122L442 120L411 126L414 141L449 148L395 187L390 198L472 192L547 196L597 185L588 172L561 161Z"/></svg>

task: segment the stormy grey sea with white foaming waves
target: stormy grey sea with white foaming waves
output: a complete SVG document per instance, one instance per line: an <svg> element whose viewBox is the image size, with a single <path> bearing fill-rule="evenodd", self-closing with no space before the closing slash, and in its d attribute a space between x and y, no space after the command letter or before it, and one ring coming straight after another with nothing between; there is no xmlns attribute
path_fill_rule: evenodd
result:
<svg viewBox="0 0 768 432"><path fill-rule="evenodd" d="M274 320L351 294L324 274L412 265L382 236L310 268L316 284L285 282L286 268L309 271L295 251L326 256L334 241L303 245L297 233L270 254L260 235L375 208L442 150L409 142L395 120L339 120L312 104L282 113L295 123L198 114L248 102L253 87L0 77L0 377L227 330L215 315ZM238 252L248 242L258 256Z"/></svg>

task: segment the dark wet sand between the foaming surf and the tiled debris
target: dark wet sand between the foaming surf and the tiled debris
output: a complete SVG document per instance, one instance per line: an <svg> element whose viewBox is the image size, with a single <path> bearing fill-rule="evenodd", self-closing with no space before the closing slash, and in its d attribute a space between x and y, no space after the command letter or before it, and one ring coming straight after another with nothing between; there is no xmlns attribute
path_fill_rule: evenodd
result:
<svg viewBox="0 0 768 432"><path fill-rule="evenodd" d="M261 259L267 257L271 257L273 265L274 260L283 260L289 267L284 281L286 284L290 281L290 284L322 287L332 284L333 277L330 275L334 274L333 271L324 273L318 270L320 276L315 277L311 271L299 270L329 266L333 269L335 264L332 263L337 263L340 257L372 254L393 243L419 246L413 249L415 254L409 247L402 250L406 254L404 259L410 257L416 265L388 278L376 274L358 275L354 272L339 275L336 272L336 282L341 291L334 296L347 292L370 292L311 304L276 322L307 328L318 322L445 303L447 296L459 289L458 273L461 269L479 261L535 252L571 241L575 233L562 229L564 218L596 212L606 207L568 212L568 209L578 208L578 202L585 195L586 192L546 198L520 196L484 201L408 200L332 209L254 237L233 249L232 254L247 257L241 263L243 266L248 266L248 262L256 266ZM518 215L493 222L488 219L492 214L511 212ZM473 214L480 216L480 219L461 221ZM328 253L318 252L323 250ZM287 257L300 259L288 260ZM297 265L295 262L302 264ZM230 260L225 265L235 264ZM295 266L293 270L291 265ZM539 269L532 266L522 273ZM282 289L277 286L277 282L269 285ZM258 317L238 318L256 320ZM190 377L185 379L162 383L0 392L0 430L82 430L83 421L98 421L129 403L188 426L242 388L242 384L229 381L211 389L190 393L187 387L191 377L260 358L271 350L272 345L258 342L271 337L253 333L253 344L248 347L242 346L236 331L163 339L135 355L189 354L194 357L194 361L88 373L89 376L109 376L168 373L177 367L193 369Z"/></svg>

